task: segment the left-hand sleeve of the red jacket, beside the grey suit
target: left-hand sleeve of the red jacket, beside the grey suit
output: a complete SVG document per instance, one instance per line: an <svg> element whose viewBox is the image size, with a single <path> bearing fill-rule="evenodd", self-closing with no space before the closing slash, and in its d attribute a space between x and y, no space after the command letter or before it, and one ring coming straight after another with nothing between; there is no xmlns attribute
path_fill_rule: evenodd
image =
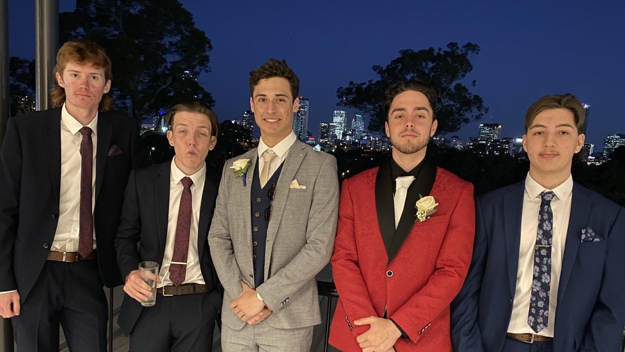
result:
<svg viewBox="0 0 625 352"><path fill-rule="evenodd" d="M339 222L336 227L334 254L332 254L332 277L339 292L339 300L343 304L350 321L377 316L369 292L362 279L358 252L356 249L356 232L354 230L354 202L351 197L349 179L343 182ZM368 325L352 325L354 338L365 333Z"/></svg>

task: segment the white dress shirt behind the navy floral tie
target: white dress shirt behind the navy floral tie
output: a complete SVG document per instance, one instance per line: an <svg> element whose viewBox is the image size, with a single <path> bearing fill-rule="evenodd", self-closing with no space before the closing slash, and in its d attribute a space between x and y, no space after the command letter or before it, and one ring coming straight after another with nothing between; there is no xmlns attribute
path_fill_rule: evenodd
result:
<svg viewBox="0 0 625 352"><path fill-rule="evenodd" d="M521 217L521 244L519 246L519 267L516 274L516 289L512 303L512 316L507 332L515 334L533 334L534 331L527 324L529 301L531 299L532 279L534 278L533 261L536 232L538 229L538 213L541 207L541 192L549 191L529 176L525 179L523 195L523 212ZM566 181L551 191L556 194L551 200L553 213L552 242L551 242L551 286L549 288L549 320L547 328L537 335L553 337L556 320L557 288L562 269L562 255L566 243L566 232L569 228L573 179L569 175Z"/></svg>

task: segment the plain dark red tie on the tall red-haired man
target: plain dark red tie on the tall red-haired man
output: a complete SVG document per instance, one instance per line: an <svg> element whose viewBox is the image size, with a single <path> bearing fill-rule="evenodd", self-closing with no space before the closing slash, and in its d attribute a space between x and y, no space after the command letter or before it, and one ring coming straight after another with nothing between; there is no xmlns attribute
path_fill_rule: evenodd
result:
<svg viewBox="0 0 625 352"><path fill-rule="evenodd" d="M83 135L80 142L80 217L78 232L78 254L83 258L93 252L93 142L91 128L83 127L79 131Z"/></svg>

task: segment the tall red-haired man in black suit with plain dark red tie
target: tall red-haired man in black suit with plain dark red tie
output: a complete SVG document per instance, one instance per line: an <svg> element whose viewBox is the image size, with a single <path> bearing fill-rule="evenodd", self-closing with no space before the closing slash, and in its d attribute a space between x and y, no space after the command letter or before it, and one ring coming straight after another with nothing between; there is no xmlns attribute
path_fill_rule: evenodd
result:
<svg viewBox="0 0 625 352"><path fill-rule="evenodd" d="M138 123L111 111L111 60L89 41L57 54L57 106L11 118L0 150L0 315L19 351L105 351L103 284L122 283L114 253Z"/></svg>

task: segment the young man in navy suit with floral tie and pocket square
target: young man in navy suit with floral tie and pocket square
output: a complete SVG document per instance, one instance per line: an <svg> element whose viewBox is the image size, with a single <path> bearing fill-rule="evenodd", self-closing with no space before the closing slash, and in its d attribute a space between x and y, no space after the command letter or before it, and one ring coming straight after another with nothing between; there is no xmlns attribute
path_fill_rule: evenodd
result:
<svg viewBox="0 0 625 352"><path fill-rule="evenodd" d="M625 324L625 209L573 182L585 111L547 95L527 110L522 182L477 197L454 351L617 351Z"/></svg>

